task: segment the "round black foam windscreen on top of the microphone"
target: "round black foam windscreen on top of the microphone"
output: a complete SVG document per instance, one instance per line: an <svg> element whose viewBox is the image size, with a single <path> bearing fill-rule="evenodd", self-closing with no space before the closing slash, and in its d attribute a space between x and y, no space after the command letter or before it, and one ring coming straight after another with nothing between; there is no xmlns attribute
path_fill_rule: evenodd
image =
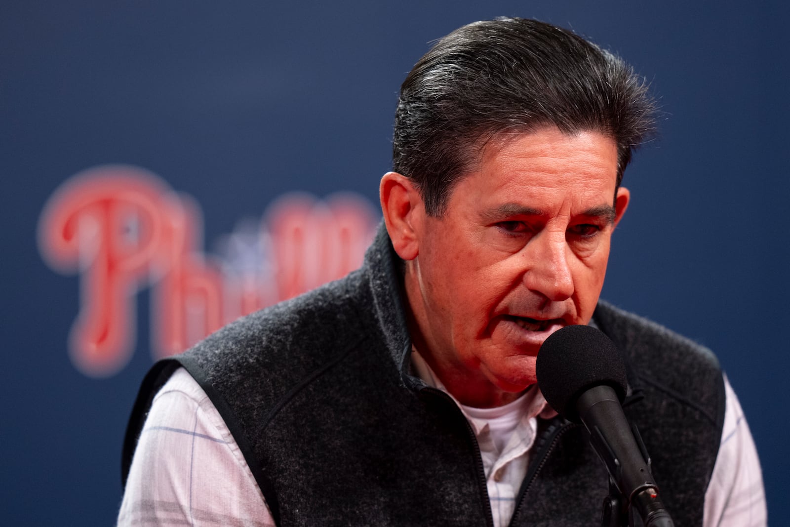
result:
<svg viewBox="0 0 790 527"><path fill-rule="evenodd" d="M590 326L566 326L552 333L537 356L538 386L559 415L579 422L576 400L592 386L615 389L626 397L626 366L609 337Z"/></svg>

